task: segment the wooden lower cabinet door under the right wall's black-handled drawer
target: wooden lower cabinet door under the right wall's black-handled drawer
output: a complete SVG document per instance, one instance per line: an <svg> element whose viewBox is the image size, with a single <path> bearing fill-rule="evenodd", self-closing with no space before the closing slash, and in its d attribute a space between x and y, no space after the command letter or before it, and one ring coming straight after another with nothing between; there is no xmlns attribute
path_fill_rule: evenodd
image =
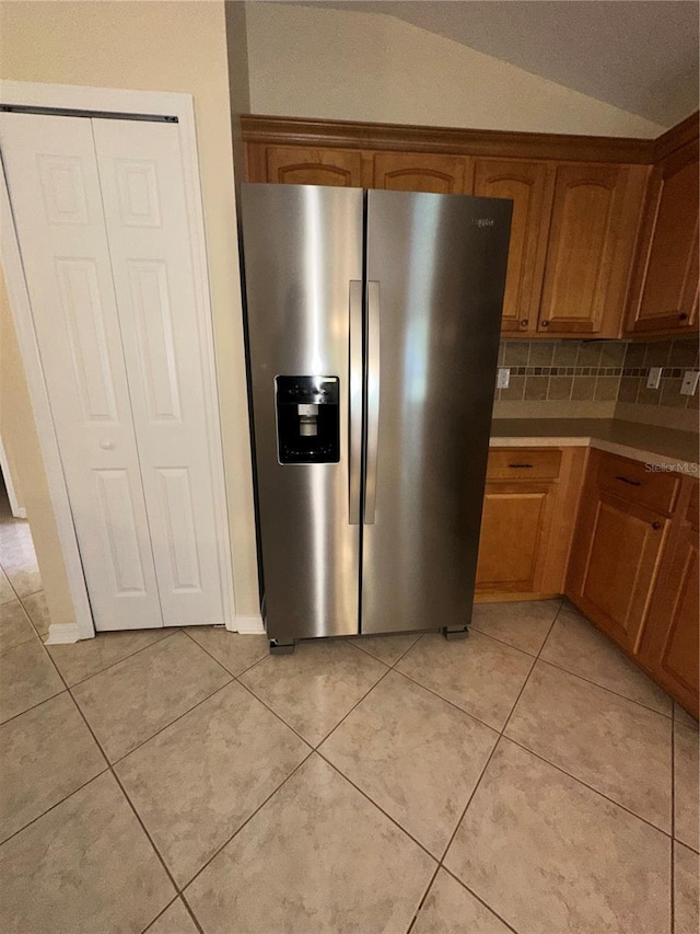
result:
<svg viewBox="0 0 700 934"><path fill-rule="evenodd" d="M584 497L567 596L635 654L669 520L592 484Z"/></svg>

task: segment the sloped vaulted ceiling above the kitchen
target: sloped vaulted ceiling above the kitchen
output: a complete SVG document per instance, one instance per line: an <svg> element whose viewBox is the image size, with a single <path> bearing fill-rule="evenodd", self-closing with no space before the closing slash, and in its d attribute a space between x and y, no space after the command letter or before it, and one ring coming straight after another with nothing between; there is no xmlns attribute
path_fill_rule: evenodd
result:
<svg viewBox="0 0 700 934"><path fill-rule="evenodd" d="M306 0L304 5L395 16L665 126L698 108L696 0Z"/></svg>

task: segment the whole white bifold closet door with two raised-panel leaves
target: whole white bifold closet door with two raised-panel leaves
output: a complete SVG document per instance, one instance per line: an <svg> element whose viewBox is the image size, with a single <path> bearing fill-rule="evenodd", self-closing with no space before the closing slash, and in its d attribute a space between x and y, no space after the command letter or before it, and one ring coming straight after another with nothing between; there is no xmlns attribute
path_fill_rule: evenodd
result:
<svg viewBox="0 0 700 934"><path fill-rule="evenodd" d="M95 627L222 622L178 127L0 114L0 149Z"/></svg>

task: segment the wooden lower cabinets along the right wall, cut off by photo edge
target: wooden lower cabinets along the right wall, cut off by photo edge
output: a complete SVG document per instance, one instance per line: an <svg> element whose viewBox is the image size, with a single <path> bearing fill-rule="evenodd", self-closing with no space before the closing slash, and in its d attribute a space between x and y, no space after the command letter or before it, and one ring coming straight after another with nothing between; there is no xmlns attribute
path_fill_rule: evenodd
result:
<svg viewBox="0 0 700 934"><path fill-rule="evenodd" d="M698 505L697 480L592 451L564 590L696 717Z"/></svg>

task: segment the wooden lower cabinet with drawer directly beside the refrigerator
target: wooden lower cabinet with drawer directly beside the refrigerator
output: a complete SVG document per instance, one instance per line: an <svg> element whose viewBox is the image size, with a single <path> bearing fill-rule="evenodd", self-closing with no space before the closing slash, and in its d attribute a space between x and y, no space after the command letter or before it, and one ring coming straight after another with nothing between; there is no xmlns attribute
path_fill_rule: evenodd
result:
<svg viewBox="0 0 700 934"><path fill-rule="evenodd" d="M476 601L535 600L563 590L582 448L492 448Z"/></svg>

